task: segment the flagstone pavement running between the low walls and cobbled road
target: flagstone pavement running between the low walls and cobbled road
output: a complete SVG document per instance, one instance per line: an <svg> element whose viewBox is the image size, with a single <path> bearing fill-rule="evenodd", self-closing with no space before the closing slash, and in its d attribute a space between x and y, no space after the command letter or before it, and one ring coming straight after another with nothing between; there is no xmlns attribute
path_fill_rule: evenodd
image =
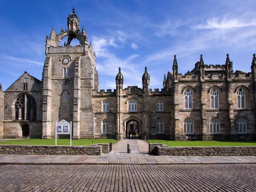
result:
<svg viewBox="0 0 256 192"><path fill-rule="evenodd" d="M256 156L152 156L123 152L101 156L0 155L0 164L256 164Z"/></svg>

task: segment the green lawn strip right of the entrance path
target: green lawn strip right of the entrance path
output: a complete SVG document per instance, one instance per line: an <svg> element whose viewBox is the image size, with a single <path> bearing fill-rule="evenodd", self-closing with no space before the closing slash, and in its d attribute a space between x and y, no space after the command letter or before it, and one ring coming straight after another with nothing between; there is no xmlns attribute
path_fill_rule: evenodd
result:
<svg viewBox="0 0 256 192"><path fill-rule="evenodd" d="M163 143L166 140L148 140L149 143ZM193 147L193 146L256 146L256 141L167 141L170 147Z"/></svg>

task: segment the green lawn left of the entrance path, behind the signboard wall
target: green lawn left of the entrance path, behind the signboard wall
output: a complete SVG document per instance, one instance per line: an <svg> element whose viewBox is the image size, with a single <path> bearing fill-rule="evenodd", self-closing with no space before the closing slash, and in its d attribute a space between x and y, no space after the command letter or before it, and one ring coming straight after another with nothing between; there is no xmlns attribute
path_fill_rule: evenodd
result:
<svg viewBox="0 0 256 192"><path fill-rule="evenodd" d="M76 139L72 140L72 145L83 146L96 143L115 143L115 139ZM69 145L69 139L57 139L57 145ZM23 139L23 140L8 140L0 141L0 145L55 145L55 139Z"/></svg>

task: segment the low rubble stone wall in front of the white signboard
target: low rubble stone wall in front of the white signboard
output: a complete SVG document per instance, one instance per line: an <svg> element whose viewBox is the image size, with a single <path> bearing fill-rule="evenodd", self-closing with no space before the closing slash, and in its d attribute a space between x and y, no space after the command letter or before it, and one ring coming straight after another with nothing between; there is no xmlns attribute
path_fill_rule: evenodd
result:
<svg viewBox="0 0 256 192"><path fill-rule="evenodd" d="M11 155L101 155L102 146L0 145L0 154Z"/></svg>

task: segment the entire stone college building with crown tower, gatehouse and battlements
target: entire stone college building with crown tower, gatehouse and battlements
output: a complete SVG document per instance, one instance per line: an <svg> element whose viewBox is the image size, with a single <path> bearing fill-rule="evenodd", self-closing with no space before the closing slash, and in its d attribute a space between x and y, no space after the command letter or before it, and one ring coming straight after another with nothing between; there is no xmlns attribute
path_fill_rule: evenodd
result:
<svg viewBox="0 0 256 192"><path fill-rule="evenodd" d="M79 45L70 45L74 38ZM67 30L57 34L53 27L46 36L45 54L42 81L25 71L1 88L0 137L54 138L55 121L64 119L73 122L73 139L121 140L133 131L142 139L255 139L255 54L250 73L234 72L227 54L226 63L215 66L205 65L201 55L184 75L174 55L161 91L149 89L147 68L142 89L124 88L119 68L116 89L99 91L96 55L75 9Z"/></svg>

